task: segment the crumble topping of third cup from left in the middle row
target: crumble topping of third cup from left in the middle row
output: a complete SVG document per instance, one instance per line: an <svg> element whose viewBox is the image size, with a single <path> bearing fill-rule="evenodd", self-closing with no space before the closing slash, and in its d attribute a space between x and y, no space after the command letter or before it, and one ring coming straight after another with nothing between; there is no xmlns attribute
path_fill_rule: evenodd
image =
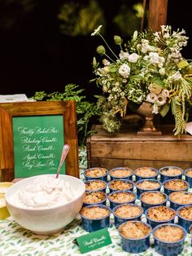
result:
<svg viewBox="0 0 192 256"><path fill-rule="evenodd" d="M157 205L165 201L165 196L161 192L143 192L142 201L149 205Z"/></svg>

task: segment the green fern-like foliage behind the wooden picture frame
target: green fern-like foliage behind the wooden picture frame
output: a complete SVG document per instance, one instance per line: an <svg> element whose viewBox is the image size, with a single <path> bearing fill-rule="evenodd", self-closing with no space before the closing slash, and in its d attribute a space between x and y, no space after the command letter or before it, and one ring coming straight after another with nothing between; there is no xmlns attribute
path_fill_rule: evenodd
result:
<svg viewBox="0 0 192 256"><path fill-rule="evenodd" d="M78 85L68 84L62 93L55 91L47 94L45 91L37 91L32 99L37 101L75 100L78 141L83 145L87 136L93 132L90 130L91 118L98 116L98 108L96 104L87 101L85 95L82 95L84 89L78 88Z"/></svg>

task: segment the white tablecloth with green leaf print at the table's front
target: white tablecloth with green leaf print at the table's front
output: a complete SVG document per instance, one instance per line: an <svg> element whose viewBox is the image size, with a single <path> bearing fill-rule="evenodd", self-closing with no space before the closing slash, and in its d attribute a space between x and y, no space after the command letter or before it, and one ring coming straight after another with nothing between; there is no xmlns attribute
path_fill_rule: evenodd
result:
<svg viewBox="0 0 192 256"><path fill-rule="evenodd" d="M120 236L116 230L111 219L111 226L108 228L111 236L111 245L107 245L103 248L96 249L85 256L129 256L120 245ZM79 247L73 243L74 239L78 236L85 235L87 232L81 227L81 220L76 218L70 223L63 232L59 232L54 236L38 236L32 232L20 227L11 218L0 221L0 255L1 256L74 256L81 255ZM153 243L151 238L151 244ZM159 255L155 253L153 245L150 249L142 254L132 255L144 255L155 256ZM182 256L192 256L191 236L188 235L185 239L185 248L181 254Z"/></svg>

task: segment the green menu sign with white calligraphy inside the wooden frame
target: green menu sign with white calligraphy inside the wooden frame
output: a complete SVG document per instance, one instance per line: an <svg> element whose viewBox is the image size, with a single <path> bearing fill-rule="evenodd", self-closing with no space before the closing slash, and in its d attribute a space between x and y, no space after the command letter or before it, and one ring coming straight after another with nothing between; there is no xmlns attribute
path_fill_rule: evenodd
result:
<svg viewBox="0 0 192 256"><path fill-rule="evenodd" d="M63 115L13 117L12 126L15 178L56 174L64 143Z"/></svg>

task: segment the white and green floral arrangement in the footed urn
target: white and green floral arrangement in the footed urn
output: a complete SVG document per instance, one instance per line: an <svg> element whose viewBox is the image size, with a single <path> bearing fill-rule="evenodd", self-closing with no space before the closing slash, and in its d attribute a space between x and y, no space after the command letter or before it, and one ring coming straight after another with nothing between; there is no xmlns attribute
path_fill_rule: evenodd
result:
<svg viewBox="0 0 192 256"><path fill-rule="evenodd" d="M119 117L126 115L128 107L149 102L153 113L162 117L171 109L174 134L184 133L192 106L192 63L181 55L188 40L185 30L172 32L171 26L163 25L159 32L135 31L126 43L114 36L119 50L116 55L100 33L101 28L91 35L100 36L105 43L97 48L102 65L94 57L96 78L92 80L103 89L103 95L97 96L103 127L109 132L119 130Z"/></svg>

